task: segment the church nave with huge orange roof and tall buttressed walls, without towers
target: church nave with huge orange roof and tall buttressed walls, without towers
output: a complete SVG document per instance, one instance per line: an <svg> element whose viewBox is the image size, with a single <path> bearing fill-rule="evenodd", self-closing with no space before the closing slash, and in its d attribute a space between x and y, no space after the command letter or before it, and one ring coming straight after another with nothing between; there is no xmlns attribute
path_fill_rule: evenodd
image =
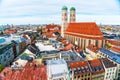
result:
<svg viewBox="0 0 120 80"><path fill-rule="evenodd" d="M70 23L65 31L65 38L82 49L90 44L101 48L105 43L102 32L94 22Z"/></svg>

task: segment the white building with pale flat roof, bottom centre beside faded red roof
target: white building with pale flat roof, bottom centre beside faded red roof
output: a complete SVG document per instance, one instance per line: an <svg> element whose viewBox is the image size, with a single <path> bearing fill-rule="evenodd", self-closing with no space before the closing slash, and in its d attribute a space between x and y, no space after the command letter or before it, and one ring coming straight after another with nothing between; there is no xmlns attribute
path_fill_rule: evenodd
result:
<svg viewBox="0 0 120 80"><path fill-rule="evenodd" d="M47 76L47 80L67 80L67 63L64 60L48 60Z"/></svg>

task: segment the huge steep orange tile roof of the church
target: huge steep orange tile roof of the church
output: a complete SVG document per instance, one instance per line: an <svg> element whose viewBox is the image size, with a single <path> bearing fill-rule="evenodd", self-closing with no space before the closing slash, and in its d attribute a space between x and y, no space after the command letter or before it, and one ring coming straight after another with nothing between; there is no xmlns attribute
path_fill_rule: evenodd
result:
<svg viewBox="0 0 120 80"><path fill-rule="evenodd" d="M89 39L104 39L95 22L70 23L65 34Z"/></svg>

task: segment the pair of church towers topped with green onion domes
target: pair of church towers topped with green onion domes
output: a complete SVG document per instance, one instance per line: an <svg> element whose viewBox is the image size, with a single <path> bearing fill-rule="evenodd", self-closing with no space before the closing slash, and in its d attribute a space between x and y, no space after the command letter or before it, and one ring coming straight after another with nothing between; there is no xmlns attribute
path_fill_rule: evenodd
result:
<svg viewBox="0 0 120 80"><path fill-rule="evenodd" d="M76 21L76 9L74 7L70 8L70 19L68 22L68 8L66 6L62 7L62 28L61 36L64 37L64 31L66 30L68 23L73 23Z"/></svg>

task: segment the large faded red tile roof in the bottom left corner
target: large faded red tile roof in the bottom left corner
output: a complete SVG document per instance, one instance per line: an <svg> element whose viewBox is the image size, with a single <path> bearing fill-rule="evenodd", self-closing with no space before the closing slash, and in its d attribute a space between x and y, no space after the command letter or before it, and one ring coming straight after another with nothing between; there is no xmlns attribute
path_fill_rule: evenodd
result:
<svg viewBox="0 0 120 80"><path fill-rule="evenodd" d="M7 71L5 80L47 80L46 66L35 66L27 63L21 70Z"/></svg>

